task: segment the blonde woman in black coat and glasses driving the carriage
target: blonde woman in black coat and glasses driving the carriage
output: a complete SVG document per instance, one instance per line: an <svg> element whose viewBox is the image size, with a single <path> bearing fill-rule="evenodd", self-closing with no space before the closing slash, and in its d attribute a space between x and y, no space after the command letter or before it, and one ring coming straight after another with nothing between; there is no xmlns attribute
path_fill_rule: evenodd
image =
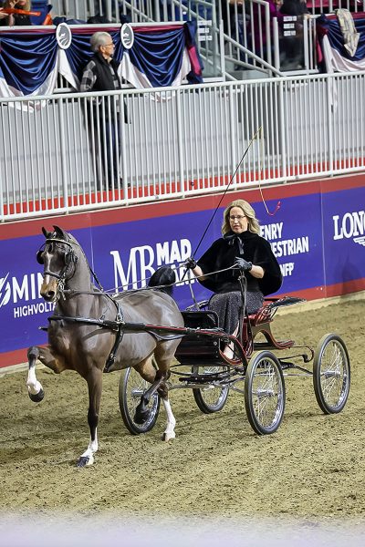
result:
<svg viewBox="0 0 365 547"><path fill-rule="evenodd" d="M196 262L189 258L185 266L204 287L214 292L209 309L219 318L225 332L236 335L243 305L239 277L245 273L245 308L255 314L264 303L264 296L276 293L282 274L270 243L259 235L255 211L244 200L235 200L224 210L223 237L216 240ZM222 271L223 270L223 271ZM224 354L232 358L227 346Z"/></svg>

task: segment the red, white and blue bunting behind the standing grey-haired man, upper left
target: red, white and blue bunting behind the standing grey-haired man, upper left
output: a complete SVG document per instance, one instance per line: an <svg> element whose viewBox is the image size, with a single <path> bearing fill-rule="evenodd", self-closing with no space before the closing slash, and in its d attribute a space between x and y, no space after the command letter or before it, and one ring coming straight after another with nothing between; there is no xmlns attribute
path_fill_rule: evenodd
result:
<svg viewBox="0 0 365 547"><path fill-rule="evenodd" d="M90 37L110 32L120 76L135 88L156 88L203 81L193 22L167 26L16 27L0 33L0 97L50 95L57 74L78 90L89 61Z"/></svg>

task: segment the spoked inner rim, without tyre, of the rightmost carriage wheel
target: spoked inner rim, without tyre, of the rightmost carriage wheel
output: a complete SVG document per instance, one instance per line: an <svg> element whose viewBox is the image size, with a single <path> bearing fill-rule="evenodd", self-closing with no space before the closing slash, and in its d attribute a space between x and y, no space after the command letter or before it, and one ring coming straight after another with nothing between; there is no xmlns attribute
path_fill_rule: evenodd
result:
<svg viewBox="0 0 365 547"><path fill-rule="evenodd" d="M330 340L320 359L320 386L328 407L341 407L349 394L349 365L344 347Z"/></svg>

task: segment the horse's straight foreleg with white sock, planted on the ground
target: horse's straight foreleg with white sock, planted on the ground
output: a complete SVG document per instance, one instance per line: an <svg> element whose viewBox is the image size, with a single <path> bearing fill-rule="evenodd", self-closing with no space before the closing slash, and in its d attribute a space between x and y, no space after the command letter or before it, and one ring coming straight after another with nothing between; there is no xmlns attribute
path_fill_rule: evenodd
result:
<svg viewBox="0 0 365 547"><path fill-rule="evenodd" d="M94 366L86 379L89 387L88 423L90 429L90 441L88 448L78 459L77 467L92 465L94 463L94 454L99 448L98 424L102 390L102 371Z"/></svg>

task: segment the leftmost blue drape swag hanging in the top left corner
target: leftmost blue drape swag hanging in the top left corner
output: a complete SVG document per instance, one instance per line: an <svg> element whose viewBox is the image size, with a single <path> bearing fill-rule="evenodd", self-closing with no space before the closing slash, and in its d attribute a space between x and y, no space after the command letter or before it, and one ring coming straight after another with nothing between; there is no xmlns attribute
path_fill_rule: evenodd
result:
<svg viewBox="0 0 365 547"><path fill-rule="evenodd" d="M55 32L1 33L0 68L9 86L29 95L40 88L55 68Z"/></svg>

